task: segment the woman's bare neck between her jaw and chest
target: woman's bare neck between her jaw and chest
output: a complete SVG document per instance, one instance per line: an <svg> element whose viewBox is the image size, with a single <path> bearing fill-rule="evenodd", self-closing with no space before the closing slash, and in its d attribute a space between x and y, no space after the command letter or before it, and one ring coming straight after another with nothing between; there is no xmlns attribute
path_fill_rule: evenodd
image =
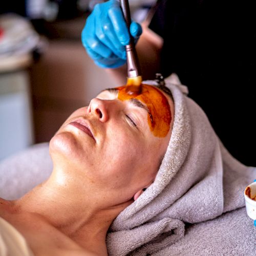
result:
<svg viewBox="0 0 256 256"><path fill-rule="evenodd" d="M39 215L81 247L95 248L99 255L106 254L105 238L111 223L130 203L102 208L100 200L90 197L89 188L77 191L57 182L54 172L49 180L14 201L19 212Z"/></svg>

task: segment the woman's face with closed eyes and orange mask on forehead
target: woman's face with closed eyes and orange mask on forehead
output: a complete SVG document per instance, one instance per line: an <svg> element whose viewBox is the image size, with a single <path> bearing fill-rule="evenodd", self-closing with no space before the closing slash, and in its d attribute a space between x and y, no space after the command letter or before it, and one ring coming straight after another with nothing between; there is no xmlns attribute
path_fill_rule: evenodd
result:
<svg viewBox="0 0 256 256"><path fill-rule="evenodd" d="M143 86L140 95L124 87L105 90L63 123L50 154L77 186L130 200L154 181L173 121L173 101L155 87Z"/></svg>

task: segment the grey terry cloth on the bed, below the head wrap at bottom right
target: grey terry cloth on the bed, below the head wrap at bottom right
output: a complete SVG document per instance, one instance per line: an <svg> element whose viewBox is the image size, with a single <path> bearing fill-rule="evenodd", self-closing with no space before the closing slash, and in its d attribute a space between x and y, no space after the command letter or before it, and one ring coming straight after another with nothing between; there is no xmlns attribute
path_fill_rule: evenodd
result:
<svg viewBox="0 0 256 256"><path fill-rule="evenodd" d="M255 256L256 227L245 207L214 220L186 225L185 236L154 256Z"/></svg>

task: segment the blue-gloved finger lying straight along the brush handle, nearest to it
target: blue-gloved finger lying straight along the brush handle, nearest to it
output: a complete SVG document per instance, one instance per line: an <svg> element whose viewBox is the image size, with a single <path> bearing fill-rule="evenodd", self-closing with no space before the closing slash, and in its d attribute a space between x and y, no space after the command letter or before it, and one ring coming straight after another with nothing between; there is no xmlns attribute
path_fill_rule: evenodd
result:
<svg viewBox="0 0 256 256"><path fill-rule="evenodd" d="M127 29L119 2L113 1L112 8L108 10L108 15L120 44L123 46L129 45L130 34Z"/></svg>

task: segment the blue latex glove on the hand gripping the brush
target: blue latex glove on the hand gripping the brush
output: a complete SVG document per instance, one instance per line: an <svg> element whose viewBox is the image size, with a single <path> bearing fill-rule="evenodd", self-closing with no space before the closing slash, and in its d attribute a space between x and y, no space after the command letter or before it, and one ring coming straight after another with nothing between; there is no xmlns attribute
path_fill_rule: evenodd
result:
<svg viewBox="0 0 256 256"><path fill-rule="evenodd" d="M130 33L138 40L142 28L132 22ZM126 62L125 45L130 36L120 3L110 0L97 4L82 30L82 44L96 65L101 68L118 68Z"/></svg>

